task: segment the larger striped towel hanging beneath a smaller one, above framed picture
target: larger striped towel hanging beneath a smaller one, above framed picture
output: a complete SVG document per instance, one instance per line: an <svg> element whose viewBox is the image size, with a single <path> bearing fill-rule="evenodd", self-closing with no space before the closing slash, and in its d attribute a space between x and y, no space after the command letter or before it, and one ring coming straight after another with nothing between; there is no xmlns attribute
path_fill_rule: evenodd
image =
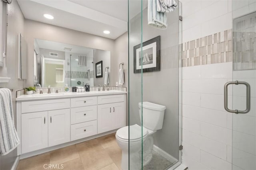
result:
<svg viewBox="0 0 256 170"><path fill-rule="evenodd" d="M167 13L157 11L158 0L148 0L148 25L159 29L167 28Z"/></svg>

